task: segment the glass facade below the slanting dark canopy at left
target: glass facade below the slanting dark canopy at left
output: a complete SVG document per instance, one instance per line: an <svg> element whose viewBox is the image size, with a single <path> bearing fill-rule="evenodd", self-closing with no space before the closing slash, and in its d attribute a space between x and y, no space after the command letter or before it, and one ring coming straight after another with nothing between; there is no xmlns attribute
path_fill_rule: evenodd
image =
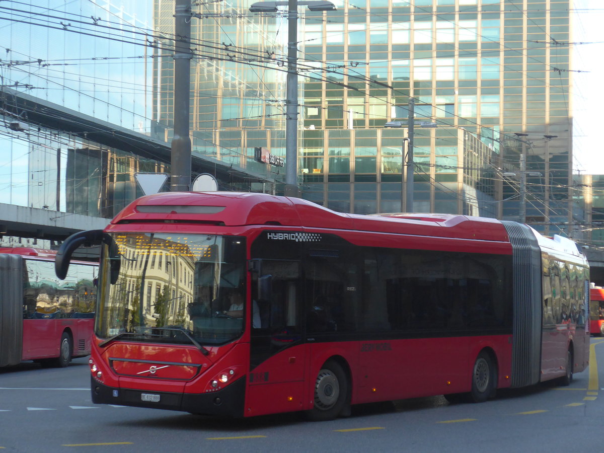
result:
<svg viewBox="0 0 604 453"><path fill-rule="evenodd" d="M2 203L111 218L143 195L135 173L169 172L158 160L66 133L42 127L35 135L11 132L0 126Z"/></svg>

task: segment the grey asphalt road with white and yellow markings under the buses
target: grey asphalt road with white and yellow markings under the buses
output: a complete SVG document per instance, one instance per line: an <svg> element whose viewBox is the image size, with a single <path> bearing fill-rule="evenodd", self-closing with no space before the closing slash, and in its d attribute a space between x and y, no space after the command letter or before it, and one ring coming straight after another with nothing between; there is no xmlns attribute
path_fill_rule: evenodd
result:
<svg viewBox="0 0 604 453"><path fill-rule="evenodd" d="M0 370L0 451L602 451L604 338L592 338L590 362L570 387L499 391L482 404L438 396L356 406L351 417L314 423L297 414L231 420L97 406L87 359L62 369L24 363Z"/></svg>

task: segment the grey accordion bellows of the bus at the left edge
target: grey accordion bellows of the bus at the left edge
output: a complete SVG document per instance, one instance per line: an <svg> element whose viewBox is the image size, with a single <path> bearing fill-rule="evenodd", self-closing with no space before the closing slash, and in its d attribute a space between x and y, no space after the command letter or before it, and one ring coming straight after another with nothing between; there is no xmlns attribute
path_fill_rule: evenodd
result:
<svg viewBox="0 0 604 453"><path fill-rule="evenodd" d="M23 259L0 254L0 367L21 362Z"/></svg>

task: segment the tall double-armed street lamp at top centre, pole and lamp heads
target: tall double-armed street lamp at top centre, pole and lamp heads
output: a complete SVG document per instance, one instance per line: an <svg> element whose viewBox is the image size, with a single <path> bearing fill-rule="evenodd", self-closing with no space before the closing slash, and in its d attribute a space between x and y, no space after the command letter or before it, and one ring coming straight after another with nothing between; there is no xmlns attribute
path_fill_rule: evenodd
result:
<svg viewBox="0 0 604 453"><path fill-rule="evenodd" d="M298 196L298 6L310 11L335 11L336 5L326 0L288 0L252 3L252 13L274 12L288 6L288 76L285 101L285 196Z"/></svg>

